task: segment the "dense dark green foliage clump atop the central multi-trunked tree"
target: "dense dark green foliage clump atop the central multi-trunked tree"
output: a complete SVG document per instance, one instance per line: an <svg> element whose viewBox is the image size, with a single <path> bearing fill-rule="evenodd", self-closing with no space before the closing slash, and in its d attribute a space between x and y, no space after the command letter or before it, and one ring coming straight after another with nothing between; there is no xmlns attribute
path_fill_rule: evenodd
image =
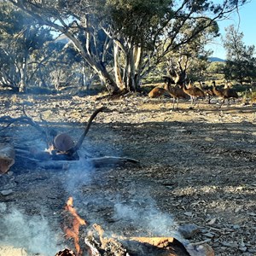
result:
<svg viewBox="0 0 256 256"><path fill-rule="evenodd" d="M163 26L170 15L172 0L108 0L104 15L112 21L113 27L123 38L130 38L134 44L150 45L152 35Z"/></svg>

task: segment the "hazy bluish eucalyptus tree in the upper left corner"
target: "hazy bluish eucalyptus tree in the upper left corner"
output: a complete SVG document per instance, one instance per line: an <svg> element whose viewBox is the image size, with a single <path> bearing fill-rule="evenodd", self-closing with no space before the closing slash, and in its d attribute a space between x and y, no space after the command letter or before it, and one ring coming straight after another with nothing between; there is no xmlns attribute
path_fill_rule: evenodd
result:
<svg viewBox="0 0 256 256"><path fill-rule="evenodd" d="M38 26L34 18L20 9L4 2L0 2L0 6L0 83L24 91L28 74L32 73L29 61L51 40L51 35L49 29Z"/></svg>

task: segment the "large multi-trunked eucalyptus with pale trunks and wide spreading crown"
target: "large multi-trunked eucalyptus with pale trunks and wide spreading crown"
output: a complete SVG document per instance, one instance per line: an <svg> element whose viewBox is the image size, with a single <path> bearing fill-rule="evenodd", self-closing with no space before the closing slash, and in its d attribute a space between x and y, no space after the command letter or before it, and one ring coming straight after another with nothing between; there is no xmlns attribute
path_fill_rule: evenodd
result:
<svg viewBox="0 0 256 256"><path fill-rule="evenodd" d="M137 90L167 53L247 0L6 0L73 42L109 92ZM186 32L185 32L186 31Z"/></svg>

